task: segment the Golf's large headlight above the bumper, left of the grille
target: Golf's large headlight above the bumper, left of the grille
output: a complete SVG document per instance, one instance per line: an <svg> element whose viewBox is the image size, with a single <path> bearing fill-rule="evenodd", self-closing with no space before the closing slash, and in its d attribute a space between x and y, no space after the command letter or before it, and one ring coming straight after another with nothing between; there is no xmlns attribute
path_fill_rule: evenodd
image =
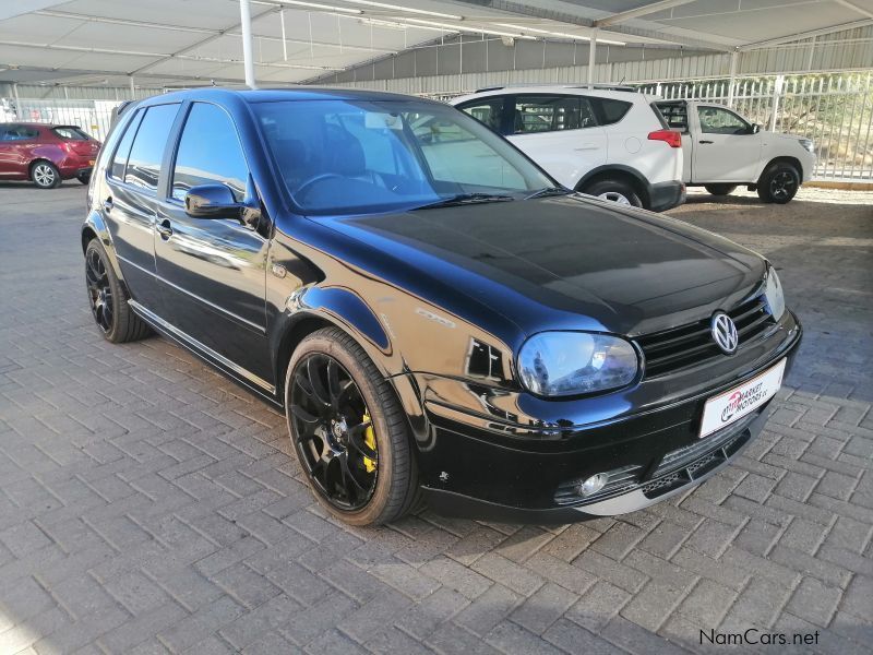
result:
<svg viewBox="0 0 873 655"><path fill-rule="evenodd" d="M528 391L566 396L619 389L639 364L630 342L587 332L542 332L518 353L518 376Z"/></svg>

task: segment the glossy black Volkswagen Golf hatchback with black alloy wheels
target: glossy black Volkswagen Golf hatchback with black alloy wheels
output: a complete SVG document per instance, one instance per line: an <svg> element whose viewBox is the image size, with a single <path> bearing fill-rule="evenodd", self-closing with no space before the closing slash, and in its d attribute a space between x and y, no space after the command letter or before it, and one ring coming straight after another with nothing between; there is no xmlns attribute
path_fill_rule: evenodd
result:
<svg viewBox="0 0 873 655"><path fill-rule="evenodd" d="M762 257L391 94L127 107L82 249L106 338L154 330L284 408L356 525L422 501L565 523L686 490L757 436L801 337Z"/></svg>

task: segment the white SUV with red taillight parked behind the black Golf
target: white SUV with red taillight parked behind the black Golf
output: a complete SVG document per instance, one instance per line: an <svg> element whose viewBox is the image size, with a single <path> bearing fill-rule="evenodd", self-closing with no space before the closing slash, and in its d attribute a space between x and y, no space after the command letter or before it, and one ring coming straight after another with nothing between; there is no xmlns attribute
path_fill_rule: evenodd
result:
<svg viewBox="0 0 873 655"><path fill-rule="evenodd" d="M504 135L563 186L660 212L685 200L682 140L631 87L498 86L452 105Z"/></svg>

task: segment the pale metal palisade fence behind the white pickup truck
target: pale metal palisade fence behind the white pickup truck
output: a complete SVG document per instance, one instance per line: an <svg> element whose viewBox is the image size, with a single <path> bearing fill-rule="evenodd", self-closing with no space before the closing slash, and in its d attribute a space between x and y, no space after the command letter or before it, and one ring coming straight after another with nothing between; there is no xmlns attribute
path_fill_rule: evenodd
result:
<svg viewBox="0 0 873 655"><path fill-rule="evenodd" d="M764 129L812 139L818 180L873 181L873 73L647 83L667 99L730 105Z"/></svg>

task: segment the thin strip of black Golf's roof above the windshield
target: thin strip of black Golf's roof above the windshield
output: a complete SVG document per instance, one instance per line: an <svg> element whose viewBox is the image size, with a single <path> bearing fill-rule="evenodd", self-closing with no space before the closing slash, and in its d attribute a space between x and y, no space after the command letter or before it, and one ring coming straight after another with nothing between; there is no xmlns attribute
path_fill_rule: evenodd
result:
<svg viewBox="0 0 873 655"><path fill-rule="evenodd" d="M386 91L371 91L366 88L334 88L330 86L289 86L285 88L247 88L234 90L223 87L191 88L186 91L174 91L159 96L152 96L140 100L137 105L160 104L162 102L186 99L212 99L222 100L223 98L239 97L247 103L275 103L277 100L419 100L421 103L434 103L443 105L438 100L421 98L418 96L390 93Z"/></svg>

